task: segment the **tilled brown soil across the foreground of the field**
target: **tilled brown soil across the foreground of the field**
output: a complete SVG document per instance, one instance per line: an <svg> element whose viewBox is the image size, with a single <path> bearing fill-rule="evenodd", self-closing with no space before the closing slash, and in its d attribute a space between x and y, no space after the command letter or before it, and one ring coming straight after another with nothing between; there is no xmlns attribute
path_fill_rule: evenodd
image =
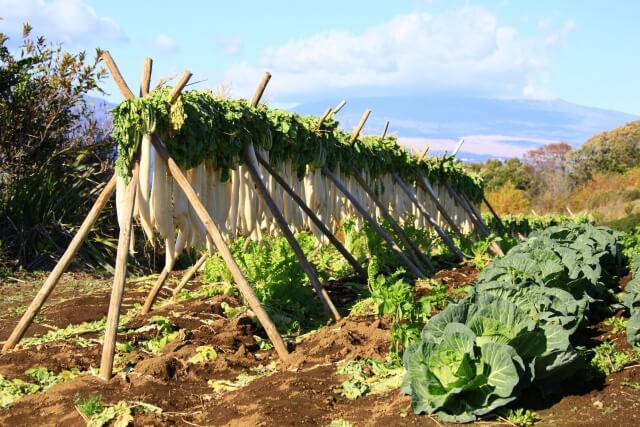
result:
<svg viewBox="0 0 640 427"><path fill-rule="evenodd" d="M472 280L474 274L463 269L443 272L440 277L455 288ZM67 276L65 280L78 280L78 277ZM125 295L123 311L144 298L144 290L134 289L135 286L139 284L132 285ZM17 287L3 290L3 296L9 297L10 291L4 292L7 289ZM106 314L107 289L73 296L63 283L60 292L64 298L54 300L43 310L38 325L34 325L28 335L40 335L51 326L98 320ZM291 342L291 356L285 363L278 360L273 350L259 349L255 336L261 332L249 316L224 317L223 303L238 305L233 297L217 296L163 305L148 316L134 317L126 325L127 329L140 331L127 335L134 344L149 337L150 332L140 327L155 315L170 319L179 333L158 354L135 346L135 350L118 362L120 366L135 365L135 369L122 370L109 382L87 374L19 399L11 407L0 410L0 425L82 426L86 421L76 409L76 402L91 395L100 395L107 404L144 402L161 408L161 414L135 415L133 424L145 426L326 426L337 419L348 420L356 426L442 424L430 417L414 415L410 398L399 390L356 400L336 392L344 380L336 374L338 362L386 356L390 331L384 318L349 317L329 324L298 344ZM6 339L18 318L10 310L5 312L0 319L0 341ZM54 341L1 355L0 374L5 378L28 380L24 372L33 367L46 367L54 372L95 368L99 366L101 351L99 343L92 341L97 335L84 334L83 338L92 345L83 347L74 340ZM589 339L614 340L621 348L626 345L624 333L612 335L602 325L591 329ZM215 348L215 360L190 363L197 348L204 345ZM216 391L209 384L209 380L233 381L240 374L264 367L271 369L270 375L236 390ZM542 418L539 425L640 425L639 388L640 366L632 365L600 383L577 378L563 384L561 390L529 391L519 405L534 409ZM500 420L482 423L507 425Z"/></svg>

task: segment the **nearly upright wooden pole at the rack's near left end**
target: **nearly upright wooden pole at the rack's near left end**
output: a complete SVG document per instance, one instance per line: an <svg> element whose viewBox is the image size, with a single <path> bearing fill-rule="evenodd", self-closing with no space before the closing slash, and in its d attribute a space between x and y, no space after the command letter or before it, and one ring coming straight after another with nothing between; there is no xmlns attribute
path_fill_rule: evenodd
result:
<svg viewBox="0 0 640 427"><path fill-rule="evenodd" d="M109 313L104 332L102 345L102 358L100 359L100 378L105 381L111 379L113 373L113 357L116 349L116 335L118 333L118 319L120 307L124 296L124 285L127 280L127 258L129 256L129 239L131 238L131 226L133 223L133 205L138 187L139 168L133 169L133 177L125 187L124 199L121 209L124 210L124 221L119 222L120 234L118 236L118 251L116 254L116 268L111 288L109 301ZM122 179L118 177L118 179Z"/></svg>

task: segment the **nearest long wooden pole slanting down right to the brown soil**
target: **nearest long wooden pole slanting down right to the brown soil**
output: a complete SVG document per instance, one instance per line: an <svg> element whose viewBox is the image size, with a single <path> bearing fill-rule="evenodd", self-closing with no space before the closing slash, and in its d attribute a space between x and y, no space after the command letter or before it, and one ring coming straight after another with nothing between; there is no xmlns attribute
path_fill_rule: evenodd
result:
<svg viewBox="0 0 640 427"><path fill-rule="evenodd" d="M213 240L213 243L220 253L220 256L229 268L229 271L231 272L231 275L236 282L236 286L242 293L244 299L247 301L247 304L249 304L249 307L251 307L251 310L253 310L253 312L256 314L256 317L260 321L262 327L267 332L267 336L276 349L278 356L280 356L280 359L286 360L289 356L289 352L287 351L287 347L284 344L284 341L282 341L282 337L278 333L278 329L274 325L265 309L262 307L262 304L260 304L260 300L256 297L253 289L251 288L251 285L249 285L249 282L247 282L244 274L242 274L240 267L238 267L238 264L233 259L233 255L231 255L229 247L224 242L220 230L216 226L213 219L211 219L211 216L207 212L207 209L198 198L197 193L185 177L178 164L169 155L169 152L167 151L164 143L160 140L160 138L158 138L158 136L154 134L152 135L151 142L160 158L164 162L166 162L167 168L173 176L176 184L180 186L182 191L184 191L184 194L193 207L196 215L198 216L198 219L200 219L200 221L202 222L205 230L207 231L207 234Z"/></svg>

